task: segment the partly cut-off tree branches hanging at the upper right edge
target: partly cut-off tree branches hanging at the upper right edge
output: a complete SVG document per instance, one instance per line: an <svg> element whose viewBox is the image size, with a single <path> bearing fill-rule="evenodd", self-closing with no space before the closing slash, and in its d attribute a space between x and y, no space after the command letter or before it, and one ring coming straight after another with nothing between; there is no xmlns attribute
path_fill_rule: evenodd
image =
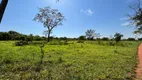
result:
<svg viewBox="0 0 142 80"><path fill-rule="evenodd" d="M137 0L135 5L130 5L130 8L134 11L133 15L128 15L130 25L135 26L134 34L142 34L142 4L141 0Z"/></svg>

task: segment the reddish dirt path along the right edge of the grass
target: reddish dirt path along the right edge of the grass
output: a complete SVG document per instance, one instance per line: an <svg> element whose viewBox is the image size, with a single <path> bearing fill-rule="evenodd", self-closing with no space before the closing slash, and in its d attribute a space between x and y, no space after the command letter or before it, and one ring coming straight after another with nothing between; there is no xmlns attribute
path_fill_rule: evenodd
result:
<svg viewBox="0 0 142 80"><path fill-rule="evenodd" d="M136 69L136 80L142 80L142 43L138 47L139 64Z"/></svg>

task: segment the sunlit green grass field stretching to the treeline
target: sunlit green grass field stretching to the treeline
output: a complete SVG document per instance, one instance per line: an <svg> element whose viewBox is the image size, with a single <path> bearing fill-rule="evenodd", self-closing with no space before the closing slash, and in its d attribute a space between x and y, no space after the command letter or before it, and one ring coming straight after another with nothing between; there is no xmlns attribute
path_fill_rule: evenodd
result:
<svg viewBox="0 0 142 80"><path fill-rule="evenodd" d="M0 42L0 80L130 80L135 75L139 42L45 45L40 72L39 45Z"/></svg>

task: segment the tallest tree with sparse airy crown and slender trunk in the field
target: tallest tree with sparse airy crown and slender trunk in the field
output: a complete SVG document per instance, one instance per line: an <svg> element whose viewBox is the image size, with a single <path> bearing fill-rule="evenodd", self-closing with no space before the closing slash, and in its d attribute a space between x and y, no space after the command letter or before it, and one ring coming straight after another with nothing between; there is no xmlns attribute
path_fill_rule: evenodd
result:
<svg viewBox="0 0 142 80"><path fill-rule="evenodd" d="M56 26L62 25L64 20L62 13L57 9L51 9L50 7L39 8L39 13L35 16L34 20L43 24L47 28L47 38L50 41L50 34Z"/></svg>

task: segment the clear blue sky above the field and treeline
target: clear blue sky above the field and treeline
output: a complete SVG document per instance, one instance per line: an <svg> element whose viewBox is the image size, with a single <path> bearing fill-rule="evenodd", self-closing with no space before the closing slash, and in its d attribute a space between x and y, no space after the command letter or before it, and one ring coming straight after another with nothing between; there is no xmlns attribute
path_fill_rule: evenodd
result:
<svg viewBox="0 0 142 80"><path fill-rule="evenodd" d="M0 0L1 1L1 0ZM125 38L135 37L134 28L128 24L129 8L136 0L9 0L0 24L0 32L14 30L23 34L43 35L47 30L39 22L33 21L38 8L50 6L64 16L62 26L53 29L56 37L79 37L88 29L100 33L102 37L113 36L116 32Z"/></svg>

